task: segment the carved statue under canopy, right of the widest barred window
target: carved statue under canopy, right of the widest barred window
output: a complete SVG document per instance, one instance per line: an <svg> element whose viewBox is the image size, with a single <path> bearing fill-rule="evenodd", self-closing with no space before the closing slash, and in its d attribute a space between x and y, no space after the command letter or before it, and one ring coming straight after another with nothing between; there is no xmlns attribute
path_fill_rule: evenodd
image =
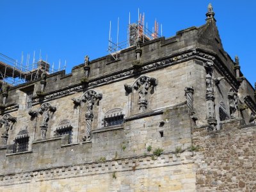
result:
<svg viewBox="0 0 256 192"><path fill-rule="evenodd" d="M144 112L147 109L148 100L147 93L150 86L156 86L157 79L147 76L140 77L133 85L133 88L139 93L140 112Z"/></svg>

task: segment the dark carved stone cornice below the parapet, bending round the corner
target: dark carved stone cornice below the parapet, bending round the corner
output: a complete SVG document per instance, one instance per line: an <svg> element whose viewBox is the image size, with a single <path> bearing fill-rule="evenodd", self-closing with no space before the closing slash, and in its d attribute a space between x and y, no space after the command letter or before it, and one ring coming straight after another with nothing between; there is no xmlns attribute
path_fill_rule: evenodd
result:
<svg viewBox="0 0 256 192"><path fill-rule="evenodd" d="M113 72L111 74L102 75L100 77L89 79L87 89L92 89L97 86L104 84L114 83L116 81L121 81L122 79L127 79L138 74L145 74L153 70L158 70L160 68L168 67L170 65L175 65L188 60L201 60L201 61L213 61L214 68L220 72L221 76L230 83L230 86L234 88L237 92L239 88L239 82L236 77L228 70L228 68L222 63L218 54L215 52L207 52L205 50L194 48L179 53L175 53L169 56L165 56L161 59L150 61L147 63L142 63L140 70L136 70L133 67L124 68L118 72ZM33 105L38 104L38 102L45 102L49 100L58 99L60 97L65 97L76 92L81 92L84 90L84 86L81 83L76 83L66 88L61 88L59 90L54 90L52 92L46 93L45 97L40 100L38 97L33 97Z"/></svg>

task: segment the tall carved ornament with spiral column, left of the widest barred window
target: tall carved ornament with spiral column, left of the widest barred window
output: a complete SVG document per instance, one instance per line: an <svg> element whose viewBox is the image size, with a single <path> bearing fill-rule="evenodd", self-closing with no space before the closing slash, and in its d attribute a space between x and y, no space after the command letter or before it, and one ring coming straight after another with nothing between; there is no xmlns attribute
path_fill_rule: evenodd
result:
<svg viewBox="0 0 256 192"><path fill-rule="evenodd" d="M85 92L81 98L83 102L86 102L86 113L85 113L85 133L83 135L83 141L89 141L92 135L92 120L93 120L93 106L97 100L102 99L101 93L96 93L93 90Z"/></svg>

